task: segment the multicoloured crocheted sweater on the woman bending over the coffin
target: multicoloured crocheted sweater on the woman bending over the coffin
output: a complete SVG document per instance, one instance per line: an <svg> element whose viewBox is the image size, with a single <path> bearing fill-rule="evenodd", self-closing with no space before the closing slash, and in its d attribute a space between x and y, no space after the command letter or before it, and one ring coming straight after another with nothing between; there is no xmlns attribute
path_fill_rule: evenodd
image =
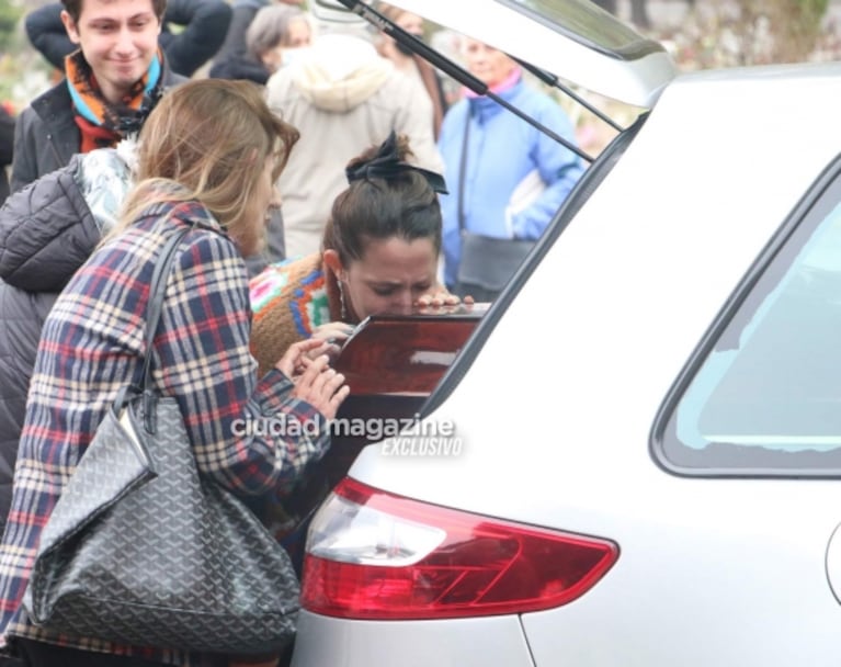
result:
<svg viewBox="0 0 841 667"><path fill-rule="evenodd" d="M249 285L253 323L251 354L262 377L289 346L319 325L341 319L339 291L327 276L321 253L266 267Z"/></svg>

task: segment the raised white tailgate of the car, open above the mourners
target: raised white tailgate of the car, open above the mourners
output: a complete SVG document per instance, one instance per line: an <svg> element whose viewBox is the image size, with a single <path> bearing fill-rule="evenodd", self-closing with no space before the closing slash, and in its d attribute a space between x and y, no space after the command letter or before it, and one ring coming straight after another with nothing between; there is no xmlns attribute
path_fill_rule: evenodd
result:
<svg viewBox="0 0 841 667"><path fill-rule="evenodd" d="M394 0L561 79L650 109L678 69L663 46L589 0ZM481 20L477 20L481 16Z"/></svg>

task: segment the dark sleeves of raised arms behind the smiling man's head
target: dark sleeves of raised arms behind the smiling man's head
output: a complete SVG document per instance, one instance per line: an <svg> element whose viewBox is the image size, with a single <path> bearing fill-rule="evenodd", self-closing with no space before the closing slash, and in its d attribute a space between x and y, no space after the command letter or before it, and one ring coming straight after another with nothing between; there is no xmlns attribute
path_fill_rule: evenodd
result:
<svg viewBox="0 0 841 667"><path fill-rule="evenodd" d="M32 45L64 71L65 56L78 46L70 42L61 23L60 2L45 4L26 14L24 26ZM169 0L159 44L172 71L184 77L213 58L228 33L231 9L225 0ZM171 31L170 24L183 30Z"/></svg>

